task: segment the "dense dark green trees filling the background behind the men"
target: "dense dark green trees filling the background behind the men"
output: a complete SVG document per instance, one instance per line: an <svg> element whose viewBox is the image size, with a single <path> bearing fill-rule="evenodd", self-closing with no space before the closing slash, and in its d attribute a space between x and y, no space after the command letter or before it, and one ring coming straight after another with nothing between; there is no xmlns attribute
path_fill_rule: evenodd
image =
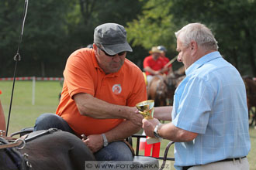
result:
<svg viewBox="0 0 256 170"><path fill-rule="evenodd" d="M0 77L12 76L24 1L0 1ZM127 58L142 68L152 46L177 55L174 32L189 22L206 24L220 53L241 75L256 76L255 0L37 0L29 1L20 46L17 76L62 76L67 57L93 42L96 26L116 22L126 27L133 53ZM175 68L181 63L173 63Z"/></svg>

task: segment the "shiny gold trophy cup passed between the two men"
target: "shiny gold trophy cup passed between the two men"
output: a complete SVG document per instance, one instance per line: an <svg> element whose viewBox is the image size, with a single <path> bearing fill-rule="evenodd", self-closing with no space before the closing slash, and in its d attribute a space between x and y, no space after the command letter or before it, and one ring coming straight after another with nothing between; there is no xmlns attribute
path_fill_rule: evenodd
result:
<svg viewBox="0 0 256 170"><path fill-rule="evenodd" d="M154 100L144 100L136 104L139 113L147 120L153 119L154 114ZM154 144L161 141L161 138L147 137L147 144Z"/></svg>

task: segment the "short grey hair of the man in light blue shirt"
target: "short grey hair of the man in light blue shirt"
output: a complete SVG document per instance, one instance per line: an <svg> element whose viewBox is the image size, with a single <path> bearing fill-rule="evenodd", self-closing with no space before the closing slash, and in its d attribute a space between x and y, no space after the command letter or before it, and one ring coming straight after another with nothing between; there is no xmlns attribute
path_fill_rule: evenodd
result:
<svg viewBox="0 0 256 170"><path fill-rule="evenodd" d="M213 32L201 23L190 23L175 32L176 38L182 42L183 46L189 46L192 41L206 50L218 50L218 42L213 36Z"/></svg>

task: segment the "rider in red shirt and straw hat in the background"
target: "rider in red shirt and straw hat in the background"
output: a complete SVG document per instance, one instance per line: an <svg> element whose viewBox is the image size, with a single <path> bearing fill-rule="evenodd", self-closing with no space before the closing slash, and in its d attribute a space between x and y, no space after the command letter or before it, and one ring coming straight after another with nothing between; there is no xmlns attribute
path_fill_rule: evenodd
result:
<svg viewBox="0 0 256 170"><path fill-rule="evenodd" d="M160 57L162 51L157 49L157 46L153 46L149 53L151 55L144 59L144 71L147 75L147 84L150 83L153 76L162 74L168 70L167 68L164 69L165 62L164 59Z"/></svg>

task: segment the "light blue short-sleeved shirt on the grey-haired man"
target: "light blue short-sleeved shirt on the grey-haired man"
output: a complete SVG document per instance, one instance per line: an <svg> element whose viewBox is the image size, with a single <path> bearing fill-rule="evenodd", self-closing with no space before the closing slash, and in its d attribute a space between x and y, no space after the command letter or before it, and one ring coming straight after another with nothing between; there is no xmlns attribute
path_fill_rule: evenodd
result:
<svg viewBox="0 0 256 170"><path fill-rule="evenodd" d="M219 52L198 59L175 90L172 123L199 135L175 143L175 168L243 157L251 148L240 73Z"/></svg>

